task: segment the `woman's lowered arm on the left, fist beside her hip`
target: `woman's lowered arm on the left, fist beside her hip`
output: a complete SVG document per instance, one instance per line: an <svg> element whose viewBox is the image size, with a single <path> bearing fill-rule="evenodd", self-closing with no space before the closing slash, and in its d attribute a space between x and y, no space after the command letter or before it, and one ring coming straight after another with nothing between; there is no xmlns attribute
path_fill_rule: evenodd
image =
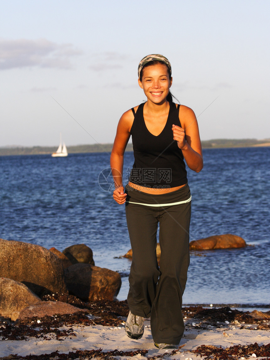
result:
<svg viewBox="0 0 270 360"><path fill-rule="evenodd" d="M111 152L111 169L115 185L113 198L118 204L126 202L126 194L123 187L123 160L133 120L134 116L131 110L123 113L117 126L116 137Z"/></svg>

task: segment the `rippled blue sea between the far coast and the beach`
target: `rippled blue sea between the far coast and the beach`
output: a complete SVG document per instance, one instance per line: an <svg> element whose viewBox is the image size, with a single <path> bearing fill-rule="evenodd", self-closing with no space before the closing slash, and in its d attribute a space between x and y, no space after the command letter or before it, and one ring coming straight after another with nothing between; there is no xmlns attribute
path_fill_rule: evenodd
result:
<svg viewBox="0 0 270 360"><path fill-rule="evenodd" d="M204 149L188 171L190 240L235 234L242 249L192 252L183 303L270 307L270 148ZM125 154L124 178L133 164ZM62 251L84 243L97 266L118 271L125 300L131 262L125 206L112 199L109 154L0 157L0 237Z"/></svg>

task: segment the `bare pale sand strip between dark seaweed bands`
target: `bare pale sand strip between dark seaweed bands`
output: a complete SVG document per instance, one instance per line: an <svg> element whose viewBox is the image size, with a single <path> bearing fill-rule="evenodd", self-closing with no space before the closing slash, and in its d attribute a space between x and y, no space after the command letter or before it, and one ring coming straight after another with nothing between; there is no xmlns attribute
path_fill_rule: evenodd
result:
<svg viewBox="0 0 270 360"><path fill-rule="evenodd" d="M192 324L193 321L193 319L187 319L185 320L185 323ZM186 328L184 337L180 342L180 345L184 345L184 347L176 354L173 354L172 359L198 360L200 357L190 353L189 350L194 350L200 345L214 345L226 348L238 344L248 345L257 342L258 345L263 345L270 342L270 330L247 330L239 329L239 327L240 325L230 324L222 328L209 328L203 330L191 325L191 327ZM256 325L252 324L252 327L256 327ZM63 327L60 329L69 328L70 327ZM164 352L167 352L169 355L171 352L171 350L158 350L154 347L149 320L145 321L144 335L139 340L128 338L123 325L121 327L103 327L102 325L84 327L73 325L72 328L76 336L60 337L58 340L55 334L46 334L48 338L51 338L50 340L29 337L27 340L0 341L0 357L8 356L10 354L18 354L21 356L30 354L41 355L49 354L57 350L60 353L67 354L69 351L98 350L99 348L102 348L103 352L146 349L148 350L148 353L145 356L136 355L133 356L132 359L147 359L147 357L164 354ZM127 356L127 358L131 359L130 356ZM255 359L255 357L252 359Z"/></svg>

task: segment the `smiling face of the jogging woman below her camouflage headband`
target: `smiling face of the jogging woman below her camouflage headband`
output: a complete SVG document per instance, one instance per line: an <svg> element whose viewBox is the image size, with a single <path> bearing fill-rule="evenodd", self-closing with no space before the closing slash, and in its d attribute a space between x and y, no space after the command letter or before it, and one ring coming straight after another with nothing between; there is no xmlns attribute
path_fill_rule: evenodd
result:
<svg viewBox="0 0 270 360"><path fill-rule="evenodd" d="M147 100L155 104L164 103L172 85L165 64L150 65L143 69L139 86L143 89Z"/></svg>

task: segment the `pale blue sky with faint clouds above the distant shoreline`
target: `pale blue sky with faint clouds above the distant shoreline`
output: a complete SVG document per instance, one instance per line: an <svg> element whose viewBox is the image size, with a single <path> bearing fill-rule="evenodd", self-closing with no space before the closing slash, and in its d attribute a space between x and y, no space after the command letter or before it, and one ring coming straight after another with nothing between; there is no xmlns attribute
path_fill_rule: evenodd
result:
<svg viewBox="0 0 270 360"><path fill-rule="evenodd" d="M113 143L157 53L202 140L270 138L269 15L269 0L0 0L0 147Z"/></svg>

